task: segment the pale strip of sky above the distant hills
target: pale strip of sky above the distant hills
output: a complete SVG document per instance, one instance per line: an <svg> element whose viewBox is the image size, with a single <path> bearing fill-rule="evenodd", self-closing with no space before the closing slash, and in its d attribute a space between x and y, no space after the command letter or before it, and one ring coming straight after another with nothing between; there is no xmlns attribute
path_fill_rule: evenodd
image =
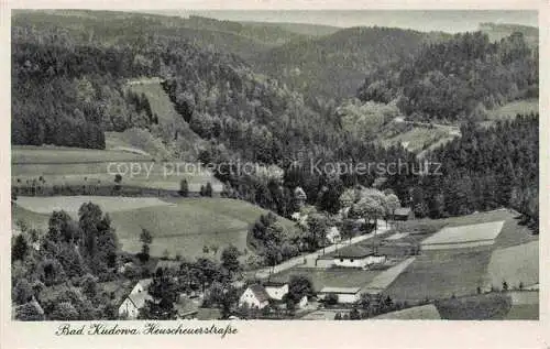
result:
<svg viewBox="0 0 550 349"><path fill-rule="evenodd" d="M169 15L204 15L219 20L293 22L349 26L394 26L417 31L474 31L481 22L538 26L537 11L503 10L157 10Z"/></svg>

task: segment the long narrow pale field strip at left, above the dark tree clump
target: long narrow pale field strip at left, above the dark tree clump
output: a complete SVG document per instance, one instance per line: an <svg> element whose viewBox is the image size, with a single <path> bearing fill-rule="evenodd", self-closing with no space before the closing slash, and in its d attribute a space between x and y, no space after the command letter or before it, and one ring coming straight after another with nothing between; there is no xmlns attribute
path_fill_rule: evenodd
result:
<svg viewBox="0 0 550 349"><path fill-rule="evenodd" d="M51 215L54 210L65 210L76 215L85 203L99 205L102 211L116 212L155 206L170 206L156 197L111 197L111 196L19 196L18 206L36 212Z"/></svg>

